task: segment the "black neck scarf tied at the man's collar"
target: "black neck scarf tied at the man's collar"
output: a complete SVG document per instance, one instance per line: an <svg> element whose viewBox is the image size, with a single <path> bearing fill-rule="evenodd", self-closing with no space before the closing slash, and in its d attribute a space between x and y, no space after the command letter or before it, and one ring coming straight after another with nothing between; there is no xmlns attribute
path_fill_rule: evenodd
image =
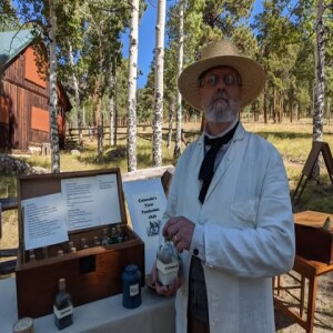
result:
<svg viewBox="0 0 333 333"><path fill-rule="evenodd" d="M214 164L218 151L223 144L229 143L229 141L233 138L238 124L239 122L233 127L231 131L229 131L221 138L210 139L208 137L204 137L204 144L211 145L211 149L204 155L199 171L199 179L202 180L202 186L199 195L199 200L201 203L204 202L205 194L214 175Z"/></svg>

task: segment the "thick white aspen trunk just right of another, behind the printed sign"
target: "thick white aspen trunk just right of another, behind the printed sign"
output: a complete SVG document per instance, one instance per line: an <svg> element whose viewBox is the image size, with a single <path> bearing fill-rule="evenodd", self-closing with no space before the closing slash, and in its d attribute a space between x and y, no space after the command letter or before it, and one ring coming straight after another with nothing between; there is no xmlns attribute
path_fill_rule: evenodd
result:
<svg viewBox="0 0 333 333"><path fill-rule="evenodd" d="M164 71L165 0L158 1L155 36L155 95L153 120L153 167L162 165L163 71Z"/></svg>

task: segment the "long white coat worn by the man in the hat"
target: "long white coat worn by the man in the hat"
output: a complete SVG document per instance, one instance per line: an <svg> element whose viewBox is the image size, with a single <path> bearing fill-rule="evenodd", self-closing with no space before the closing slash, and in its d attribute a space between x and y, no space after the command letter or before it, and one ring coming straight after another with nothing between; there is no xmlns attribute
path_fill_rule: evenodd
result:
<svg viewBox="0 0 333 333"><path fill-rule="evenodd" d="M164 222L183 215L204 228L203 270L211 333L275 332L272 276L291 270L294 225L289 183L278 150L240 123L203 204L199 170L203 135L181 155ZM186 332L190 252L181 254L176 332Z"/></svg>

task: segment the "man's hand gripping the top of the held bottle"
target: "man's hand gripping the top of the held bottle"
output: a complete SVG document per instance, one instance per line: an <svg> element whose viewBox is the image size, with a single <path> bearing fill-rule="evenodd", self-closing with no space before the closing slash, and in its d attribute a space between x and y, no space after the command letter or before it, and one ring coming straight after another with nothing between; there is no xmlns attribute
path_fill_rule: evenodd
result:
<svg viewBox="0 0 333 333"><path fill-rule="evenodd" d="M171 218L163 228L163 235L174 243L179 253L190 250L195 224L184 216Z"/></svg>

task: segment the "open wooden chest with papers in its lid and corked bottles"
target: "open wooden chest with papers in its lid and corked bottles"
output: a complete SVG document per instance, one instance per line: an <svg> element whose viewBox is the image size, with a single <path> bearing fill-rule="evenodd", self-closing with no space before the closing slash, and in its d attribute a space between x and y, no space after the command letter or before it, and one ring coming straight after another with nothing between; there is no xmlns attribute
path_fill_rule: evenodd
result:
<svg viewBox="0 0 333 333"><path fill-rule="evenodd" d="M113 182L111 185L109 176ZM30 199L33 201L37 198L48 198L52 194L61 194L62 198L69 193L67 191L67 194L63 195L63 182L70 182L74 185L77 181L99 183L103 178L108 181L102 185L97 185L103 190L97 196L98 201L107 202L101 210L108 206L107 211L110 210L112 214L113 208L118 212L113 214L115 218L112 218L111 223L110 221L100 221L97 223L98 225L75 229L72 224L70 228L68 226L70 218L67 218L68 241L29 250L26 244L24 229L27 233L26 203ZM110 195L110 200L102 198L102 195L111 193L108 191L109 185L113 186L113 195ZM77 191L77 194L79 192L81 191ZM88 195L87 188L82 188L82 193ZM119 169L19 176L18 195L19 255L16 281L19 317L38 317L52 313L60 278L65 279L67 291L71 294L74 306L121 293L121 276L128 264L139 266L142 273L142 284L144 283L144 243L128 226ZM89 209L89 203L87 209ZM37 220L40 220L40 216ZM31 222L31 220L28 221ZM80 225L80 221L77 222ZM36 221L31 224L36 224ZM29 228L31 228L30 224ZM105 233L111 236L111 231L114 229L119 235L117 242L98 243L101 242ZM83 242L82 239L85 241ZM29 239L30 241L31 239ZM82 246L83 243L85 246ZM72 252L73 249L70 248L75 248L77 251ZM32 252L33 255L31 255Z"/></svg>

